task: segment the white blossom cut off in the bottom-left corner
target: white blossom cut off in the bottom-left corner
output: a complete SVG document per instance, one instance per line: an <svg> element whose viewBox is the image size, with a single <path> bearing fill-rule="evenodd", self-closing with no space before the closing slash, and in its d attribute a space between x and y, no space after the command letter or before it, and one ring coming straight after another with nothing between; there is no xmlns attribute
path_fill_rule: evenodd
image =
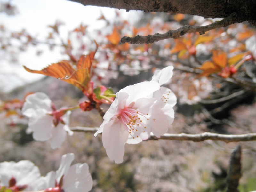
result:
<svg viewBox="0 0 256 192"><path fill-rule="evenodd" d="M30 183L41 176L38 167L28 160L0 163L0 187L12 191L30 191Z"/></svg>

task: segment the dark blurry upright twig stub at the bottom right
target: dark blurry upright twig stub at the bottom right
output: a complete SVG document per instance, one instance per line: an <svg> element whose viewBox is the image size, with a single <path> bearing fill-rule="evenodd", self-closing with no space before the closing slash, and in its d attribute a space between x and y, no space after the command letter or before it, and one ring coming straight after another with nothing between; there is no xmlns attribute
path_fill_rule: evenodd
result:
<svg viewBox="0 0 256 192"><path fill-rule="evenodd" d="M239 185L239 179L241 178L241 146L238 145L233 151L228 169L228 175L226 179L227 190L226 192L239 192L237 189Z"/></svg>

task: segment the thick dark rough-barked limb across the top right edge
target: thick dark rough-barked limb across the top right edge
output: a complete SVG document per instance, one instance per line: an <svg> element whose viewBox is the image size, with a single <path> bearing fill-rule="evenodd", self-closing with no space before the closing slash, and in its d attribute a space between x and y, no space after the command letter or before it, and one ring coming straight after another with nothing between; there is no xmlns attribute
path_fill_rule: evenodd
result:
<svg viewBox="0 0 256 192"><path fill-rule="evenodd" d="M226 18L236 12L237 22L256 24L255 0L70 0L83 5L144 12L168 12L199 15L204 18Z"/></svg>

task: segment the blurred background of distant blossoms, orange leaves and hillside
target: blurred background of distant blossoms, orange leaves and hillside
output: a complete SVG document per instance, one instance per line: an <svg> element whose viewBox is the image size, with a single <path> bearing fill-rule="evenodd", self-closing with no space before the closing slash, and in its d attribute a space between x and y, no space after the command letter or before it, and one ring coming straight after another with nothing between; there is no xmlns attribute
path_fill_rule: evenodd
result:
<svg viewBox="0 0 256 192"><path fill-rule="evenodd" d="M5 4L1 6L4 10ZM10 13L10 10L5 7L2 12ZM63 59L74 61L95 49L95 39L100 47L92 66L92 80L95 84L112 87L115 92L127 85L150 80L156 69L174 66L172 82L167 86L177 96L178 103L174 107L175 120L169 133L256 132L256 33L253 26L239 23L202 36L186 34L154 44L130 45L121 44L120 38L164 33L185 24L200 26L215 20L181 14L144 13L133 26L122 19L119 11L116 11L114 21L107 20L103 14L99 20L105 22L104 28L88 33L87 26L81 24L67 32L67 39L59 35L63 25L60 21L49 25L49 36L45 39L37 39L26 30L8 31L1 25L1 54L11 63L19 63L18 55L26 52L28 47L37 49L40 44L46 44L50 50L61 47ZM42 51L38 50L37 55L40 54ZM38 91L49 95L57 108L76 106L86 99L77 88L52 77L44 77L11 92L2 91L0 162L28 159L45 175L59 167L63 154L72 152L76 156L74 163L89 164L94 181L92 191L95 192L224 191L229 156L236 143L149 140L137 145L127 144L124 162L115 164L109 161L101 136L75 132L62 148L52 150L48 141L37 142L26 134L27 119L20 115L26 93ZM107 110L109 106L103 104L102 107ZM76 110L71 114L70 127L99 127L101 123L102 118L95 109ZM239 190L249 192L256 190L256 144L254 141L240 144L243 148L243 177Z"/></svg>

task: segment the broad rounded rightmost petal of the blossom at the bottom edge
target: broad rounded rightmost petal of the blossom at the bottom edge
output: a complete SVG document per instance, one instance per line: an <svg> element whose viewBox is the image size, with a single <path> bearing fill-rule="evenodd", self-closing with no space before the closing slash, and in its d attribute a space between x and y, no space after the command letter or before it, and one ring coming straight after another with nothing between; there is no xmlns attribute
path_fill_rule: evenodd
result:
<svg viewBox="0 0 256 192"><path fill-rule="evenodd" d="M72 165L63 178L65 192L88 192L92 189L92 176L86 163Z"/></svg>

